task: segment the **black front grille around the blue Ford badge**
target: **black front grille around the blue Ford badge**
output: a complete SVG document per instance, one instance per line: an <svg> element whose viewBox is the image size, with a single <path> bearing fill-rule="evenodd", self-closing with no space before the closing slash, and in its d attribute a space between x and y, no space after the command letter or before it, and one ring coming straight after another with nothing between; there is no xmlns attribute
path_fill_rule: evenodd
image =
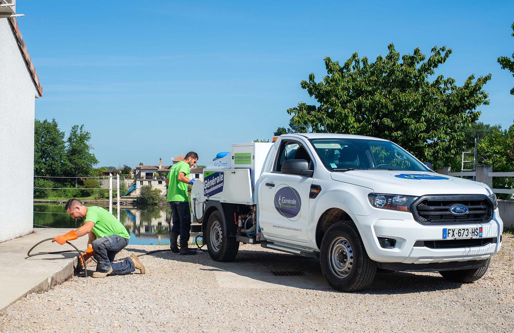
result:
<svg viewBox="0 0 514 333"><path fill-rule="evenodd" d="M454 205L463 205L468 212L455 215ZM416 221L424 225L478 224L492 218L492 203L486 195L424 195L411 206Z"/></svg>

